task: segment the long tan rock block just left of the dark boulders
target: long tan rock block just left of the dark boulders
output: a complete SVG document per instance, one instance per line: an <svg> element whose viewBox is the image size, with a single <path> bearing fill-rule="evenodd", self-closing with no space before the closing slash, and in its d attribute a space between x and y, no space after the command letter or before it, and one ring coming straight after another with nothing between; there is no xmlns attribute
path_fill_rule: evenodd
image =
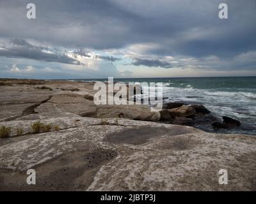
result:
<svg viewBox="0 0 256 204"><path fill-rule="evenodd" d="M102 105L97 106L96 117L158 121L161 115L159 112L151 112L146 105Z"/></svg>

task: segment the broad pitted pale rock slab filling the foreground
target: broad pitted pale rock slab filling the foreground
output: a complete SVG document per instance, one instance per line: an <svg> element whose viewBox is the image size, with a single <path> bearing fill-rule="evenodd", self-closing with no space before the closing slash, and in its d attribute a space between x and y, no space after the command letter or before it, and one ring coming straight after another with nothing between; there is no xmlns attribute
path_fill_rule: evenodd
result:
<svg viewBox="0 0 256 204"><path fill-rule="evenodd" d="M4 139L11 141L0 146L0 189L256 189L253 136L216 135L186 126L127 119L104 123L79 120L77 128ZM34 187L26 184L29 168L37 173ZM224 186L218 184L218 171L223 168L229 178Z"/></svg>

